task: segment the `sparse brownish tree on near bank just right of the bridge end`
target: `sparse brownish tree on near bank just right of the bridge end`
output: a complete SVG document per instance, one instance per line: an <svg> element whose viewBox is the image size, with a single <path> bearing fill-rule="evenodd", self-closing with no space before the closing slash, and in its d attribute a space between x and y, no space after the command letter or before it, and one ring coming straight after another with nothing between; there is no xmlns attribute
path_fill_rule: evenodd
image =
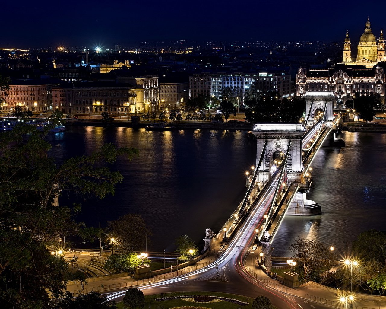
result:
<svg viewBox="0 0 386 309"><path fill-rule="evenodd" d="M322 272L328 249L320 241L298 237L288 248L294 253L293 258L303 267L304 280L309 280L312 272Z"/></svg>

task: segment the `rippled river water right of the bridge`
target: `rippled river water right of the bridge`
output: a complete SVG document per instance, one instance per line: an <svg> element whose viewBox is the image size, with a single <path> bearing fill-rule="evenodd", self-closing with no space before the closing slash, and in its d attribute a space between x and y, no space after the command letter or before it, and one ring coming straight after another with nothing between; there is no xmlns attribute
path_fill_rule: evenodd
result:
<svg viewBox="0 0 386 309"><path fill-rule="evenodd" d="M289 256L298 236L345 250L357 234L384 230L386 215L386 134L345 132L345 148L320 149L313 161L308 199L322 206L315 217L287 216L276 235L274 255Z"/></svg>

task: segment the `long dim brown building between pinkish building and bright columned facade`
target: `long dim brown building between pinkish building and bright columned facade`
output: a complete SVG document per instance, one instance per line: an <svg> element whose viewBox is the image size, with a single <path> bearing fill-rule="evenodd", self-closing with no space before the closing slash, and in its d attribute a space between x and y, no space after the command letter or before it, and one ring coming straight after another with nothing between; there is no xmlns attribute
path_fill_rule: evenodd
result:
<svg viewBox="0 0 386 309"><path fill-rule="evenodd" d="M114 81L64 84L52 88L53 104L64 114L135 113L135 86Z"/></svg>

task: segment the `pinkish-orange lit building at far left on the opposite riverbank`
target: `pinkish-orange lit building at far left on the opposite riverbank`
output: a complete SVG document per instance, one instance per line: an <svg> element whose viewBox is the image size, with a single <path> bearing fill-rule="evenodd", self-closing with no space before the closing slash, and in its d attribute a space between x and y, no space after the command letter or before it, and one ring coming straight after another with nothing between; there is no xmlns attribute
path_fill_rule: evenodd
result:
<svg viewBox="0 0 386 309"><path fill-rule="evenodd" d="M10 113L19 105L23 111L43 112L55 108L52 105L53 81L22 79L13 80L9 85L9 91L2 111Z"/></svg>

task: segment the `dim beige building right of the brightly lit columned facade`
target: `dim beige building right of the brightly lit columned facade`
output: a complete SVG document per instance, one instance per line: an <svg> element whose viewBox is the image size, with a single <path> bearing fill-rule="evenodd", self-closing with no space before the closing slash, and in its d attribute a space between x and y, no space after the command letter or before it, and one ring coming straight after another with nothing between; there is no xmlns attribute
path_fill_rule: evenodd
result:
<svg viewBox="0 0 386 309"><path fill-rule="evenodd" d="M160 83L160 109L185 107L189 96L189 83Z"/></svg>

